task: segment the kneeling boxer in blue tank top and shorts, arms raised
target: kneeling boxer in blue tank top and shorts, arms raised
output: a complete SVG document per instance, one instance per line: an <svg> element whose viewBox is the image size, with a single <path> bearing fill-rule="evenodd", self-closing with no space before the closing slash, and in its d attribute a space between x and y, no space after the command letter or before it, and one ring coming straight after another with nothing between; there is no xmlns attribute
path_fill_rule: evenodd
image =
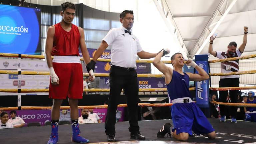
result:
<svg viewBox="0 0 256 144"><path fill-rule="evenodd" d="M213 127L199 107L191 100L189 93L189 81L207 80L209 79L208 74L191 59L188 59L186 64L194 67L198 74L183 73L182 68L185 61L181 53L175 53L171 57L173 69L167 67L160 60L168 53L170 53L168 49L160 52L153 60L153 65L165 76L169 98L173 103L171 114L174 126L166 123L157 133L157 137L164 137L169 133L177 140L186 141L194 131L196 135L202 134L209 139L214 139L216 133ZM170 131L170 129L172 130Z"/></svg>

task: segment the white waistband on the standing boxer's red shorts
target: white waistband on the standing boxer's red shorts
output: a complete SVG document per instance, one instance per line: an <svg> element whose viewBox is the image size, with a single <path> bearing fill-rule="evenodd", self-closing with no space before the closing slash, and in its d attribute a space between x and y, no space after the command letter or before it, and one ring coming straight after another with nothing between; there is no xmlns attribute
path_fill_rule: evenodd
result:
<svg viewBox="0 0 256 144"><path fill-rule="evenodd" d="M56 62L56 63L81 63L79 56L54 56L52 62Z"/></svg>

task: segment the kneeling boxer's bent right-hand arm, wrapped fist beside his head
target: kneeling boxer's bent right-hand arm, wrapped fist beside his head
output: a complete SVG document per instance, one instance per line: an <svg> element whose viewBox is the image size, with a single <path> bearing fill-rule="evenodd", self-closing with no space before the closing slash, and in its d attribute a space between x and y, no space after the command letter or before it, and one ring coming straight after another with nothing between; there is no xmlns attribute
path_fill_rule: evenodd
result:
<svg viewBox="0 0 256 144"><path fill-rule="evenodd" d="M191 81L202 81L209 79L209 75L205 72L205 70L192 61L192 59L188 59L186 64L188 66L193 66L198 71L198 74L187 73Z"/></svg>

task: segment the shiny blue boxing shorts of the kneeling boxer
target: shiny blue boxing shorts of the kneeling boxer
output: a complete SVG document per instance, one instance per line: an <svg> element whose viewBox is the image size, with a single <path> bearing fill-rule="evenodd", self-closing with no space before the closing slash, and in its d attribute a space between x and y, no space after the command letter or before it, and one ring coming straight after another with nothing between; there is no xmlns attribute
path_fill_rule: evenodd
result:
<svg viewBox="0 0 256 144"><path fill-rule="evenodd" d="M173 132L176 134L182 132L192 135L204 135L215 131L207 120L203 112L194 102L175 103L171 106L172 121L174 124Z"/></svg>

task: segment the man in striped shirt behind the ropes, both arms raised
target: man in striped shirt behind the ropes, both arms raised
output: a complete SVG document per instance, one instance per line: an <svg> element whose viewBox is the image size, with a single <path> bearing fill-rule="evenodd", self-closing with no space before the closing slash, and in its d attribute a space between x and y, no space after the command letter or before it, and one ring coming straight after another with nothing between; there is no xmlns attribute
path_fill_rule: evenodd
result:
<svg viewBox="0 0 256 144"><path fill-rule="evenodd" d="M248 31L248 27L245 26L243 43L240 45L240 47L236 49L237 47L236 42L230 42L226 52L212 50L213 40L215 39L214 35L212 35L210 38L208 52L219 59L240 57L244 52L244 48L247 43L247 34L248 34L247 31ZM221 62L220 65L221 65L221 73L231 73L231 72L239 71L238 60ZM239 75L220 76L219 87L239 87ZM220 93L219 101L226 102L228 91L219 91L219 93ZM230 90L229 94L230 94L231 103L237 103L238 90ZM226 121L225 109L226 109L226 106L220 105L220 115L221 115L220 121L222 122ZM231 122L235 122L235 123L237 122L236 114L237 114L237 107L231 107L231 116L232 116Z"/></svg>

